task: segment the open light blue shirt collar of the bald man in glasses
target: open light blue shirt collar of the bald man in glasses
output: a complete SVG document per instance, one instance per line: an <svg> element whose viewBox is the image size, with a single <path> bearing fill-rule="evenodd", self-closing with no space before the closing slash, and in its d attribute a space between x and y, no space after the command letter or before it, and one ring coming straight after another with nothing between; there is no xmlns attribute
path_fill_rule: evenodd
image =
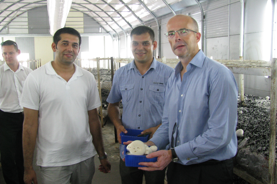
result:
<svg viewBox="0 0 277 184"><path fill-rule="evenodd" d="M204 60L205 60L205 54L203 53L203 51L200 49L196 55L192 58L192 60L190 61L190 63L187 66L187 70L189 68L191 68L191 65L194 65L196 67L202 68L203 64L204 64ZM178 62L178 64L175 67L175 76L177 76L181 70L183 69L183 65L181 63L181 61Z"/></svg>

